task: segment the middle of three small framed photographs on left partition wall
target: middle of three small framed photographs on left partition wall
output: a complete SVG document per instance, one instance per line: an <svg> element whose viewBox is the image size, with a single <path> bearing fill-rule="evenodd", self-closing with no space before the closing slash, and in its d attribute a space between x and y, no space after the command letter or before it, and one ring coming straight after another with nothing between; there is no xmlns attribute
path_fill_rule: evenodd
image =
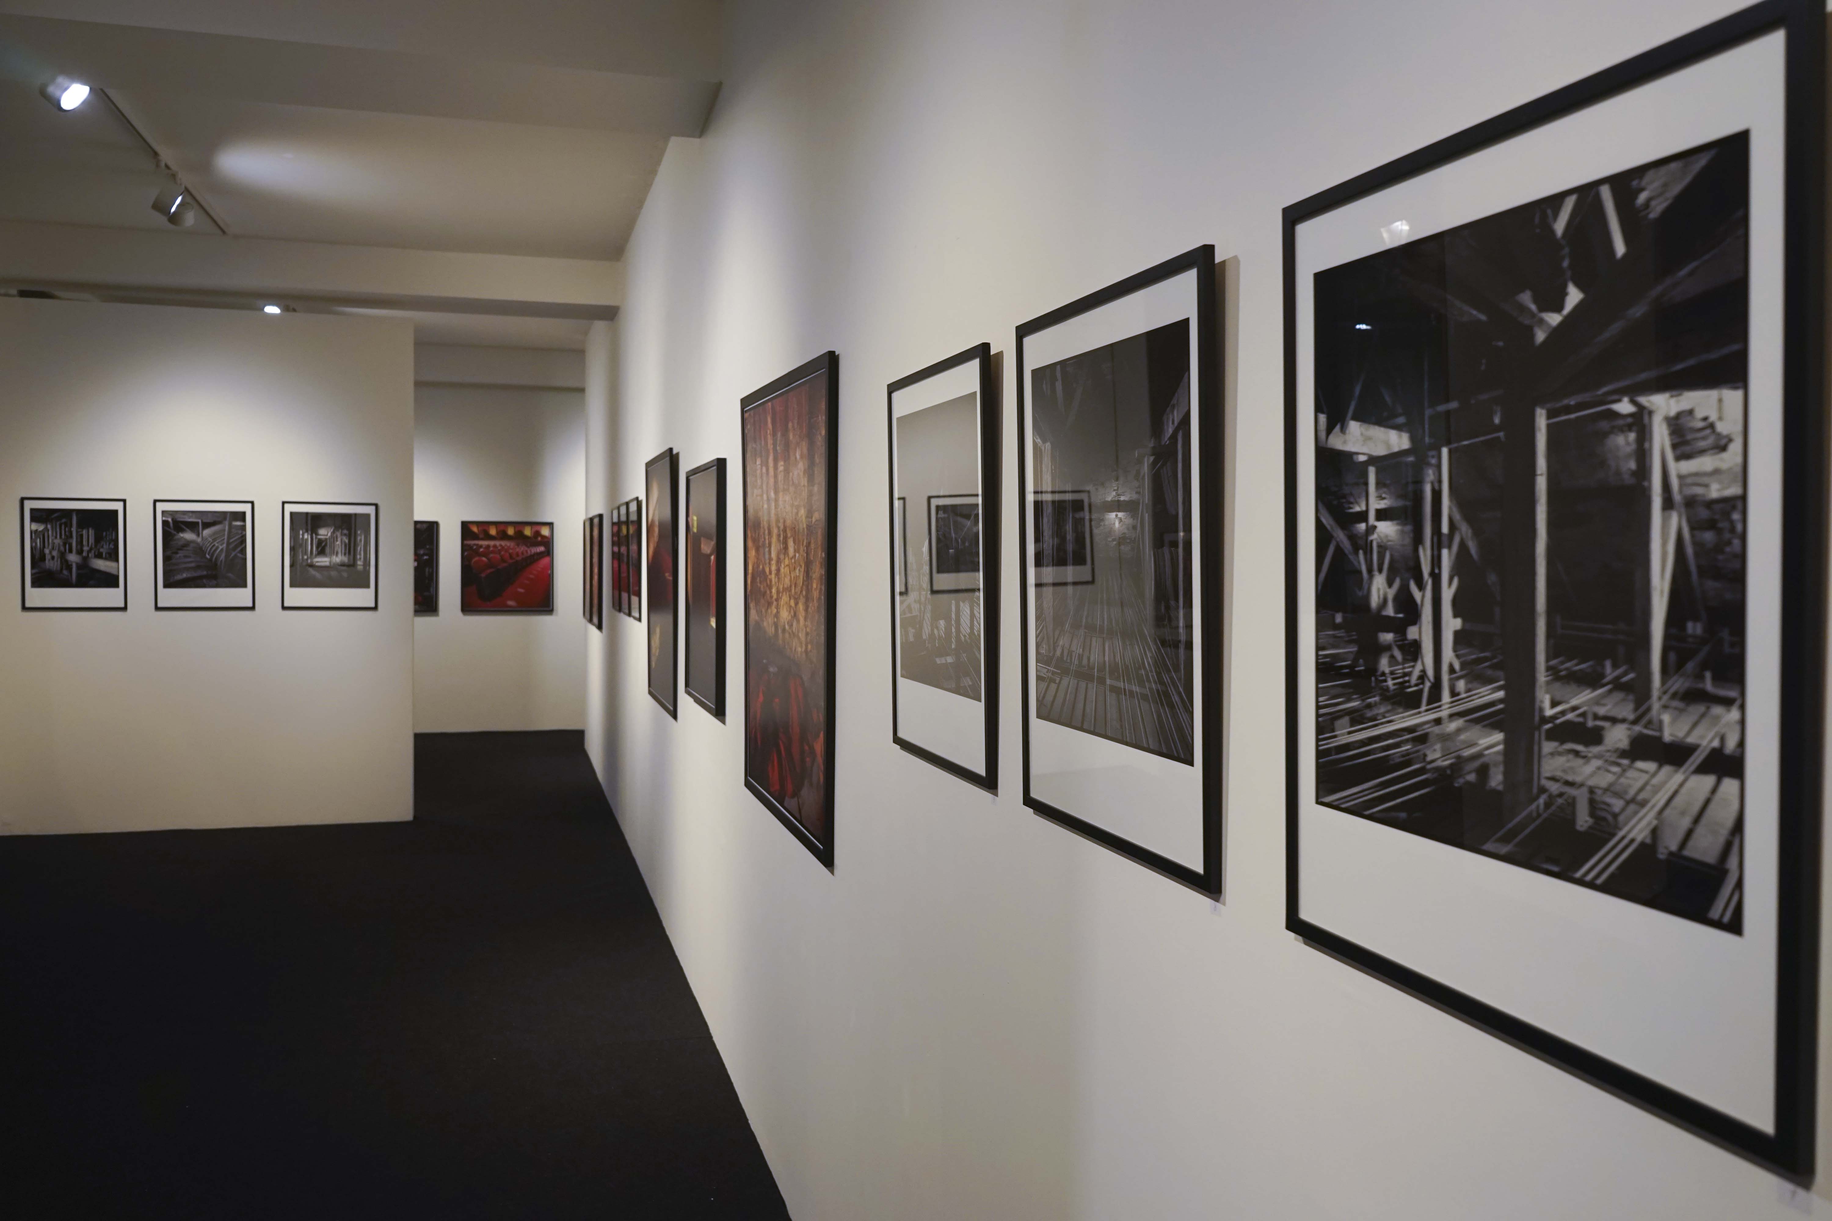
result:
<svg viewBox="0 0 1832 1221"><path fill-rule="evenodd" d="M255 502L152 502L154 610L255 610Z"/></svg>

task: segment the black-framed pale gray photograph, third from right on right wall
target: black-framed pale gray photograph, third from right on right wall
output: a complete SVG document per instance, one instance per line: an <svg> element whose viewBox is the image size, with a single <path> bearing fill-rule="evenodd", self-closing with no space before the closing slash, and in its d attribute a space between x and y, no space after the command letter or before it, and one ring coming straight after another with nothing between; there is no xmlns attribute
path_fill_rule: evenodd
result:
<svg viewBox="0 0 1832 1221"><path fill-rule="evenodd" d="M887 401L890 740L997 789L1002 417L991 346L890 383ZM914 582L911 503L920 514Z"/></svg>

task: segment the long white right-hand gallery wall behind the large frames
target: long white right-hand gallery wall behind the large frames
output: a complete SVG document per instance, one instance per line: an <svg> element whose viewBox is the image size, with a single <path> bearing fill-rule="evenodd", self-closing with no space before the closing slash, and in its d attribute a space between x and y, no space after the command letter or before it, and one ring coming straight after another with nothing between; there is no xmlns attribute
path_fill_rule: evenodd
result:
<svg viewBox="0 0 1832 1221"><path fill-rule="evenodd" d="M839 351L834 871L744 789L736 630L727 723L674 721L608 622L588 741L795 1217L1827 1208L1284 932L1281 209L1733 7L731 5L705 137L628 249L588 480L614 503L663 447L736 459L738 399ZM997 796L890 743L885 558L887 383L1004 351L1011 487L1013 328L1204 242L1231 297L1222 902L1030 813L1011 712Z"/></svg>

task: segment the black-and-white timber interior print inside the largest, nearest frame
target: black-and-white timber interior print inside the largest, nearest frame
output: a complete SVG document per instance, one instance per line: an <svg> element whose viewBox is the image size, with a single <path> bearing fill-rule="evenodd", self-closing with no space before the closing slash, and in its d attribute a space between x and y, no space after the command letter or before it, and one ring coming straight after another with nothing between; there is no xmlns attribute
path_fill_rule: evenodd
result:
<svg viewBox="0 0 1832 1221"><path fill-rule="evenodd" d="M1748 212L1739 134L1315 276L1317 802L1742 932Z"/></svg>

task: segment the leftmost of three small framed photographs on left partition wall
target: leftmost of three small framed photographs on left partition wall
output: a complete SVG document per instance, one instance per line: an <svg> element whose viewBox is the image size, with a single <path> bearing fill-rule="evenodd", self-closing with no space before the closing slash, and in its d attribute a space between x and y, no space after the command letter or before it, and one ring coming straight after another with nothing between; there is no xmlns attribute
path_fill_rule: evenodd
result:
<svg viewBox="0 0 1832 1221"><path fill-rule="evenodd" d="M126 502L20 496L20 610L126 610Z"/></svg>

